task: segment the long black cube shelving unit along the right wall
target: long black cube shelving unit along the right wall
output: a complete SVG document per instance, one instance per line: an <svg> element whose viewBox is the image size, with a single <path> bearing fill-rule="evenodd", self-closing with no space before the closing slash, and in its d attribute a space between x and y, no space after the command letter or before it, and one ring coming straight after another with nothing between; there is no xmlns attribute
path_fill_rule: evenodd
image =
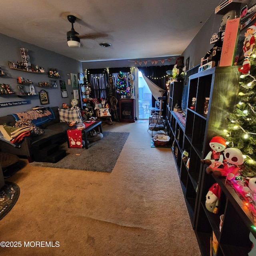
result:
<svg viewBox="0 0 256 256"><path fill-rule="evenodd" d="M225 178L217 179L206 174L206 165L201 164L210 151L209 142L221 136L226 128L225 119L236 105L239 77L237 66L214 67L192 74L188 79L186 122L173 111L176 100L181 101L182 85L170 84L168 106L166 106L166 128L172 141L172 152L176 162L180 184L191 219L192 227L203 256L210 256L210 237L214 232L218 240L216 256L248 256L252 242L249 234L256 237L251 227L254 218L244 209L239 198ZM190 109L192 98L196 106ZM204 114L205 98L210 98L208 114ZM182 152L189 152L189 166L182 160ZM218 182L222 189L220 211L209 212L205 207L209 188ZM224 214L220 232L220 215Z"/></svg>

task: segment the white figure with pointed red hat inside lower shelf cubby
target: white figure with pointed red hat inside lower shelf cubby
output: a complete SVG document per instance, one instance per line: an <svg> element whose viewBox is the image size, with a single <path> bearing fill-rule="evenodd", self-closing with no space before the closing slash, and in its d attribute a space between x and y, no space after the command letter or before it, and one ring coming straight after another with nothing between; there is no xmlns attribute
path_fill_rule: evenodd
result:
<svg viewBox="0 0 256 256"><path fill-rule="evenodd" d="M218 183L214 183L206 194L205 207L209 212L219 212L220 195L221 188Z"/></svg>

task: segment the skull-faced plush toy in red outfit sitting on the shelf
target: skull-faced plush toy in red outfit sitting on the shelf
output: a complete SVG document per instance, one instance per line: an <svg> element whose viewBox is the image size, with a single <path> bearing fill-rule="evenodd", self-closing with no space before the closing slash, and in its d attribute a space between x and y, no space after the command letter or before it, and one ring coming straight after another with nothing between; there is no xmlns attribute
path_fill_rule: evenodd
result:
<svg viewBox="0 0 256 256"><path fill-rule="evenodd" d="M243 154L238 148L227 148L224 157L225 160L222 163L215 161L206 168L206 172L216 178L226 176L227 180L232 180L240 170L239 165L244 163Z"/></svg>

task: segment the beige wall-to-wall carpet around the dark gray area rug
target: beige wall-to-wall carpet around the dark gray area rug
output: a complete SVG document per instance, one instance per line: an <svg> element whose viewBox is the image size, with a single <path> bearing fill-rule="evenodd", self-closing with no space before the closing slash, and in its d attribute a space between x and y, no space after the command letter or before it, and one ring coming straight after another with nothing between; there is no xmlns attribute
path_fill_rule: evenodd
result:
<svg viewBox="0 0 256 256"><path fill-rule="evenodd" d="M27 164L8 178L20 197L0 221L0 241L22 246L0 247L0 255L200 256L172 152L151 148L147 129L147 123L103 126L130 132L112 173ZM24 247L28 241L59 247Z"/></svg>

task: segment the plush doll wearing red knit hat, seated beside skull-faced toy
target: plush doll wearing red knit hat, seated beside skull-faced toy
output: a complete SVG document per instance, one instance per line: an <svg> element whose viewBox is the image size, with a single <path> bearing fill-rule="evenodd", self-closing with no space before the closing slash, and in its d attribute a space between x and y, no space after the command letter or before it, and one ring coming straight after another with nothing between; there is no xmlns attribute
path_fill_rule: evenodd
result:
<svg viewBox="0 0 256 256"><path fill-rule="evenodd" d="M226 140L220 136L215 136L211 139L210 143L211 151L204 159L201 159L202 164L212 164L214 161L223 162L223 151L226 148Z"/></svg>

